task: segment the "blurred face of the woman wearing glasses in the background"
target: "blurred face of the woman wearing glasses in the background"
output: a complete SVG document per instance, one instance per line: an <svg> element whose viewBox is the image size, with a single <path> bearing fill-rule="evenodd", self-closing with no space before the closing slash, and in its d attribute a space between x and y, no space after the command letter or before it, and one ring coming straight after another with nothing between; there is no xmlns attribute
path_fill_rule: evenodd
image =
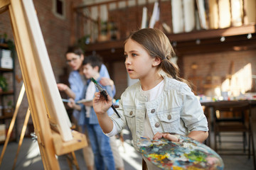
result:
<svg viewBox="0 0 256 170"><path fill-rule="evenodd" d="M82 66L82 60L84 59L83 55L76 55L73 52L70 52L66 54L66 59L68 65L73 69L73 70L78 70Z"/></svg>

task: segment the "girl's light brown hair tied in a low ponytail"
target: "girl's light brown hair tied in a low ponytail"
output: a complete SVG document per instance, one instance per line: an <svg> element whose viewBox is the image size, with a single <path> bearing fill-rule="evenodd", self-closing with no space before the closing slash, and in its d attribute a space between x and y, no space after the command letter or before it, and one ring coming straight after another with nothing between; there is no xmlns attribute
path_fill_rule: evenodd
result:
<svg viewBox="0 0 256 170"><path fill-rule="evenodd" d="M133 32L128 39L132 39L142 45L151 57L159 57L161 59L159 69L162 69L173 79L182 81L191 87L188 81L179 77L178 66L171 62L171 57L175 56L174 48L171 46L169 38L161 30L144 28ZM127 40L124 41L124 44Z"/></svg>

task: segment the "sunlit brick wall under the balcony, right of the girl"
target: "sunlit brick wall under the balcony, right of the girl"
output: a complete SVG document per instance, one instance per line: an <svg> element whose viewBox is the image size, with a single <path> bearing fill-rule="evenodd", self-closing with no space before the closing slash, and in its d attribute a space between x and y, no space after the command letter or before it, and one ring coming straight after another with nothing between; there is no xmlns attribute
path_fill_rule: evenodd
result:
<svg viewBox="0 0 256 170"><path fill-rule="evenodd" d="M193 66L197 68L192 69ZM193 84L197 85L195 91L198 94L213 96L215 88L226 90L223 83L229 81L228 79L231 79L230 88L235 96L239 92L255 91L256 80L250 75L256 74L256 50L184 56L183 74L186 79L191 79ZM229 77L229 74L233 74L233 77ZM243 86L250 86L251 89L244 91Z"/></svg>

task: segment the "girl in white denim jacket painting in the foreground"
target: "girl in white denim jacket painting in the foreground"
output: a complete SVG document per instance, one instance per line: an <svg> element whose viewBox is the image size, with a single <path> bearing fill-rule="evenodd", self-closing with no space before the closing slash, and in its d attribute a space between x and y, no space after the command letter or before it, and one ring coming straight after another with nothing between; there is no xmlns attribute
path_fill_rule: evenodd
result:
<svg viewBox="0 0 256 170"><path fill-rule="evenodd" d="M117 109L121 118L116 114L108 117L110 96L106 101L95 93L93 108L103 132L112 136L128 125L135 149L139 149L137 140L142 136L177 141L172 132L199 142L206 140L206 116L186 81L178 77L178 67L170 62L174 50L166 35L153 28L138 30L124 42L124 56L129 77L139 82L122 94ZM144 160L148 169L154 169Z"/></svg>

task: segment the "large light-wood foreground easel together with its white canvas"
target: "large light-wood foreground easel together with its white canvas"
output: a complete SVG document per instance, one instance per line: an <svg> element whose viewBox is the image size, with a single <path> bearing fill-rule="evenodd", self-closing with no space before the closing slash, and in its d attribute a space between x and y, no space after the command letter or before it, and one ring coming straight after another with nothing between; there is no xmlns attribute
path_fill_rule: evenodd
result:
<svg viewBox="0 0 256 170"><path fill-rule="evenodd" d="M0 13L9 10L18 61L38 138L44 169L60 169L55 154L87 145L85 135L70 130L41 28L31 0L1 0Z"/></svg>

